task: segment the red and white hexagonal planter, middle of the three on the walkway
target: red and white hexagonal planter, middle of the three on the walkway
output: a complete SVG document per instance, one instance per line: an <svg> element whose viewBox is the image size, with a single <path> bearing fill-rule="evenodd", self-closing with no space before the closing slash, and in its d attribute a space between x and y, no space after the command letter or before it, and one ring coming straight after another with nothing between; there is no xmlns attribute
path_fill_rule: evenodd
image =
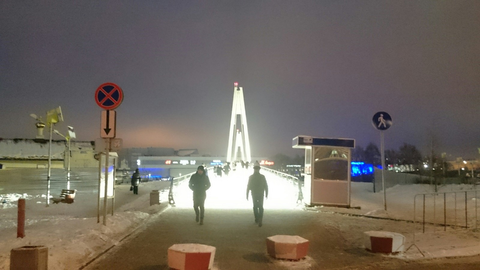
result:
<svg viewBox="0 0 480 270"><path fill-rule="evenodd" d="M299 260L307 256L310 241L298 235L275 235L267 237L267 252L279 259Z"/></svg>

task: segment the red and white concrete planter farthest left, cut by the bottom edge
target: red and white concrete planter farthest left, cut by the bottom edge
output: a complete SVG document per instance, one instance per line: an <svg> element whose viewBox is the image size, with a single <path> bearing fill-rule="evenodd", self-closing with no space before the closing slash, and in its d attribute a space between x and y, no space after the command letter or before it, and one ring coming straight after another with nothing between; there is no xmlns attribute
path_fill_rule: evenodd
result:
<svg viewBox="0 0 480 270"><path fill-rule="evenodd" d="M215 246L176 244L168 248L168 267L176 270L209 270L213 267Z"/></svg>

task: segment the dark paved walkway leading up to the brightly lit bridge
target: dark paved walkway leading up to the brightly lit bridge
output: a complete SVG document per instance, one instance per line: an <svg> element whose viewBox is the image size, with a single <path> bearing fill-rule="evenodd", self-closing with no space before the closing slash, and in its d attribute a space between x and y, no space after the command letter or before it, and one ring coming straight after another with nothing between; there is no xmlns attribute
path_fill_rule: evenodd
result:
<svg viewBox="0 0 480 270"><path fill-rule="evenodd" d="M86 269L168 269L168 247L177 243L201 243L217 248L215 269L335 269L396 264L398 259L369 253L361 244L349 244L334 225L340 215L302 210L268 210L264 226L253 222L247 209L206 209L205 224L194 221L193 209L171 208L155 218L142 232L113 248ZM348 221L351 222L351 221ZM300 235L311 241L309 258L292 263L266 254L265 238L276 234ZM400 261L400 263L402 263Z"/></svg>

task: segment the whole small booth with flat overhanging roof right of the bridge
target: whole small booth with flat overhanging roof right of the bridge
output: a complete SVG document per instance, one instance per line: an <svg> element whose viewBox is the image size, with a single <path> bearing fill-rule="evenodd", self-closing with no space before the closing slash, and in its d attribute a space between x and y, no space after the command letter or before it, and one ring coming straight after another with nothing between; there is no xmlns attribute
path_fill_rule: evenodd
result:
<svg viewBox="0 0 480 270"><path fill-rule="evenodd" d="M350 166L353 139L299 135L293 148L305 148L305 204L350 207Z"/></svg>

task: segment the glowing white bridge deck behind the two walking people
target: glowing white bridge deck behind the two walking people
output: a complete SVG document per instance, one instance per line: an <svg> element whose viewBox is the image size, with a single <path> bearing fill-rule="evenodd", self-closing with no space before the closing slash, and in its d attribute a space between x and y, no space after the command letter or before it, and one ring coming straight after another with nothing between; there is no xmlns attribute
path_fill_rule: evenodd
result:
<svg viewBox="0 0 480 270"><path fill-rule="evenodd" d="M208 176L212 184L207 190L205 211L208 209L252 209L252 196L246 199L248 177L253 169L237 169L230 171L228 176L216 177L210 171ZM298 188L289 181L269 172L260 170L265 175L268 184L268 199L264 199L264 209L301 209L297 205ZM184 180L174 189L175 206L193 208L193 193L188 187L189 179Z"/></svg>

